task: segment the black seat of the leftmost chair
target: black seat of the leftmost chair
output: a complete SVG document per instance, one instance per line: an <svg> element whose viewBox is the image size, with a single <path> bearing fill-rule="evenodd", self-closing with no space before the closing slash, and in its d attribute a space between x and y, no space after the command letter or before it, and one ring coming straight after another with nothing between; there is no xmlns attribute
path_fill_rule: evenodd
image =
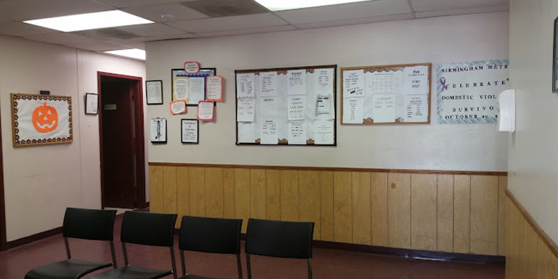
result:
<svg viewBox="0 0 558 279"><path fill-rule="evenodd" d="M76 279L87 273L112 266L110 262L86 262L80 259L67 259L31 269L25 279Z"/></svg>

